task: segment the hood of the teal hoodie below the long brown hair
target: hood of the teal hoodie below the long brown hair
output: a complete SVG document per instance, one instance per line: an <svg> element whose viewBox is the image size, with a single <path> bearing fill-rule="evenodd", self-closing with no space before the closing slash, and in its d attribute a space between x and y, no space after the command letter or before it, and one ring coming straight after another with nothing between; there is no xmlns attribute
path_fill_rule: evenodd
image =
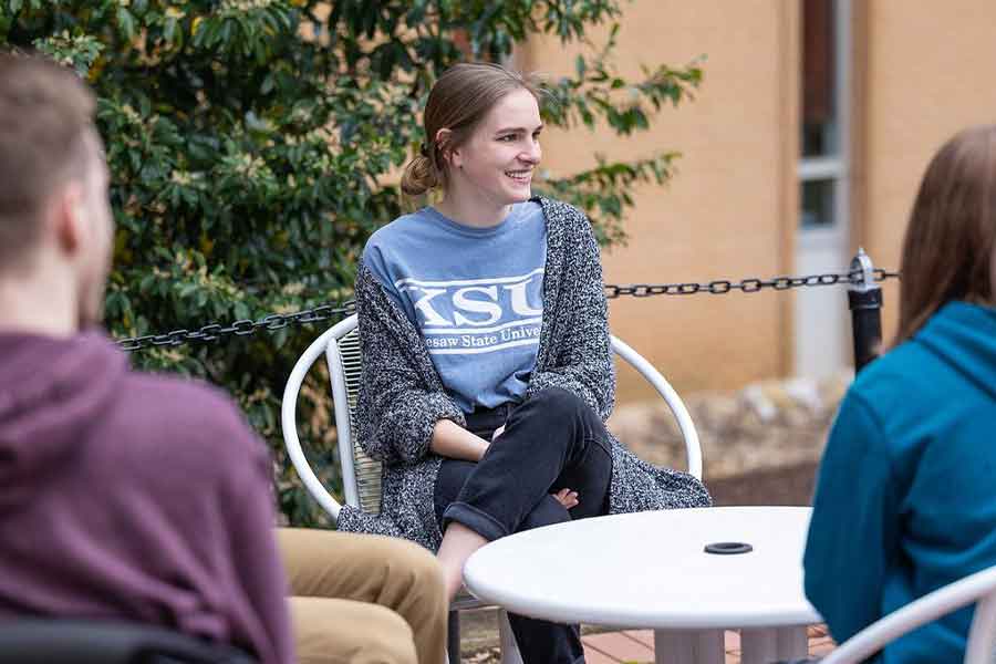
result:
<svg viewBox="0 0 996 664"><path fill-rule="evenodd" d="M996 308L950 302L914 340L996 401Z"/></svg>

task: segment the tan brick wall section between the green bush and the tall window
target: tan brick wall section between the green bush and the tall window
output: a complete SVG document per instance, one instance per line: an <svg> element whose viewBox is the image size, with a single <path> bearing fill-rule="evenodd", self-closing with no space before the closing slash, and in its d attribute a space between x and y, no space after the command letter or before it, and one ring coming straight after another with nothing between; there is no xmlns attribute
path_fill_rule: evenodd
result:
<svg viewBox="0 0 996 664"><path fill-rule="evenodd" d="M678 149L665 189L643 187L626 228L630 245L604 256L608 282L769 277L789 271L797 206L793 3L755 0L636 0L624 4L615 62L683 64L705 54L696 100L666 108L652 131L619 139L608 131L549 132L544 165L554 174L592 163L592 153L631 159ZM595 38L599 42L598 37ZM529 44L535 71L572 71L574 51L556 40ZM791 212L790 215L787 212ZM790 219L790 222L787 221ZM790 364L791 299L784 293L618 300L612 329L658 366L678 391L741 385ZM649 391L621 374L623 400Z"/></svg>

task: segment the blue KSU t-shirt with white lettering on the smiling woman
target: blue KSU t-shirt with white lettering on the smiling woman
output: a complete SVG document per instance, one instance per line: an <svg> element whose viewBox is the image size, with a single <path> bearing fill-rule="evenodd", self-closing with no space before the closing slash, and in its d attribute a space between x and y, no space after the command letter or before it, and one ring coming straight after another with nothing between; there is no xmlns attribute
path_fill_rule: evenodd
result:
<svg viewBox="0 0 996 664"><path fill-rule="evenodd" d="M447 393L470 413L526 394L546 256L542 208L530 200L490 228L432 207L398 217L371 236L363 262L422 334Z"/></svg>

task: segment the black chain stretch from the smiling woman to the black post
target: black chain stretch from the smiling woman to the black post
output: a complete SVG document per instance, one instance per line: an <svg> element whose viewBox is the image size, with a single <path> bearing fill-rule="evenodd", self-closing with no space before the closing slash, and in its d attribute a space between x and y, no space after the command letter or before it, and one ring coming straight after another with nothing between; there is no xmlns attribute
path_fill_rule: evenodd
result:
<svg viewBox="0 0 996 664"><path fill-rule="evenodd" d="M900 278L899 272L890 272L881 268L875 269L873 273L875 281ZM649 298L651 295L694 295L697 293L722 295L733 291L756 293L766 288L788 290L790 288L801 288L807 286L861 283L862 276L863 273L861 270L852 270L850 272L829 272L824 274L809 274L806 277L774 277L771 279L743 279L740 281L717 279L715 281L709 281L708 283L632 283L629 286L606 283L605 297L612 300L622 295Z"/></svg>

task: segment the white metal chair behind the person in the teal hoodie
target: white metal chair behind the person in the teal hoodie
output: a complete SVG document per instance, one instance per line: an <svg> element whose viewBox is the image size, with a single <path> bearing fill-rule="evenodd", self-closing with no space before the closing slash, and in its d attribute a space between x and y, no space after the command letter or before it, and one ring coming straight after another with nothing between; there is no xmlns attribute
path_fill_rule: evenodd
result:
<svg viewBox="0 0 996 664"><path fill-rule="evenodd" d="M965 664L992 664L996 645L996 567L938 588L864 627L820 664L858 664L916 627L977 602L968 631Z"/></svg>

